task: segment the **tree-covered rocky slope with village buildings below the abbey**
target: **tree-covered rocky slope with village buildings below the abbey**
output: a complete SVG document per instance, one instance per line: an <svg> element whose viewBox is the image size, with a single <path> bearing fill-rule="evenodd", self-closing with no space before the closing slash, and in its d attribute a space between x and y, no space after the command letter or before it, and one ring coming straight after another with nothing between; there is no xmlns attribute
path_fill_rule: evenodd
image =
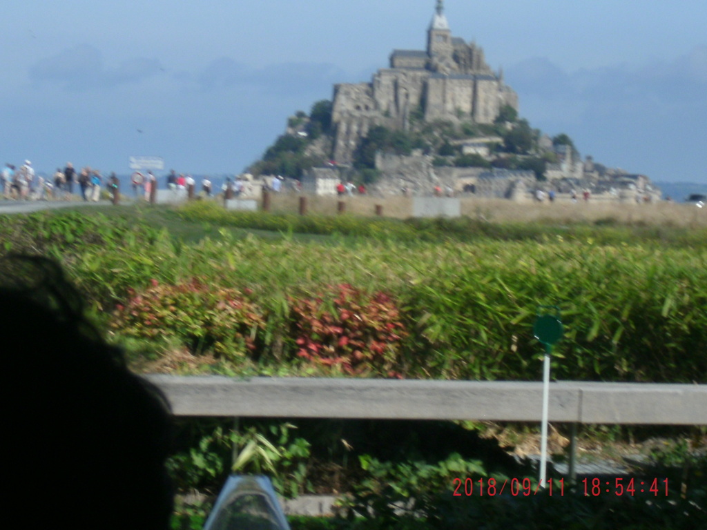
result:
<svg viewBox="0 0 707 530"><path fill-rule="evenodd" d="M526 119L520 119L510 106L502 108L493 124L425 122L423 110L416 110L407 130L385 126L370 129L356 146L350 165L332 160L333 133L332 102L316 102L309 114L299 111L288 119L285 133L249 170L256 176L283 175L300 179L311 167L338 167L342 179L368 185L380 182L380 187L389 191L399 189L401 183L409 188L407 182L416 184L416 179L431 185L438 180L438 184L451 185L459 191L463 188L463 183L458 182L459 175L521 170L532 171L535 183L531 183L531 188L544 187L560 193L588 189L595 194L617 196L620 190L626 189L636 192L641 200L644 194L650 194L650 200L660 196L648 177L605 167L591 157L581 160L567 134L547 136L533 129ZM381 155L387 160L397 157L400 162L382 164ZM405 160L407 157L416 160L409 162ZM407 168L421 165L424 168L419 171L420 175L408 174ZM453 171L454 168L466 170ZM427 184L413 185L411 189L426 192L431 188Z"/></svg>

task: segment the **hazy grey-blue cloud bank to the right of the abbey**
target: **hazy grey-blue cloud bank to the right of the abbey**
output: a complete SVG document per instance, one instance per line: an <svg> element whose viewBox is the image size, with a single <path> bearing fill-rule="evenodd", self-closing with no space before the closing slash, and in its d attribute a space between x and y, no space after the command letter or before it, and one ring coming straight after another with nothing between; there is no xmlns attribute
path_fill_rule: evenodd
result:
<svg viewBox="0 0 707 530"><path fill-rule="evenodd" d="M527 59L506 78L533 126L569 134L598 162L654 179L703 179L707 47L669 61L573 72Z"/></svg>

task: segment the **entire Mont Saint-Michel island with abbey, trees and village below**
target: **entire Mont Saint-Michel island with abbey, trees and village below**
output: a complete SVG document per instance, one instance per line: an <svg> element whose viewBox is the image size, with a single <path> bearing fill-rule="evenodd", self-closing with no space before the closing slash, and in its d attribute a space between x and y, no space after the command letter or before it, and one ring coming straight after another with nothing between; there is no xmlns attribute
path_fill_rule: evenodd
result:
<svg viewBox="0 0 707 530"><path fill-rule="evenodd" d="M339 83L331 101L290 117L250 171L301 179L316 194L343 181L380 194L660 199L645 175L580 158L568 134L548 136L521 119L503 71L476 42L452 35L442 0L424 42L394 49L370 81Z"/></svg>

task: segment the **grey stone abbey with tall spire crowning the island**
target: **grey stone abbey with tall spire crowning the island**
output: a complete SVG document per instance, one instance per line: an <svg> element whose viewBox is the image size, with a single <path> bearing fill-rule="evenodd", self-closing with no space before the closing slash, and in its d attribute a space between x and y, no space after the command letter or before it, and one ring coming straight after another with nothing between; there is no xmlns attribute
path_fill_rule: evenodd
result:
<svg viewBox="0 0 707 530"><path fill-rule="evenodd" d="M427 49L396 49L390 68L370 83L334 87L334 160L351 162L352 153L372 126L409 126L411 114L426 122L447 120L492 123L503 105L518 110L518 95L484 60L484 49L452 37L443 0L427 31Z"/></svg>

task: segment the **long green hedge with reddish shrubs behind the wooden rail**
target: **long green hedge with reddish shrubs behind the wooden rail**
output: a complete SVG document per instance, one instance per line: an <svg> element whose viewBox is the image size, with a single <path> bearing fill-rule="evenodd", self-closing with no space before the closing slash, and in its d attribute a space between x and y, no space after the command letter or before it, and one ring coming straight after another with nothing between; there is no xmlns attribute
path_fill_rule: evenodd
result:
<svg viewBox="0 0 707 530"><path fill-rule="evenodd" d="M560 238L320 245L233 240L226 232L216 241L186 245L140 223L76 215L42 217L41 231L22 236L62 259L123 336L140 336L145 320L122 318L117 305L129 305L136 295L156 302L152 281L179 290L196 278L199 293L178 304L165 294L160 326L192 329L164 328L192 351L222 355L235 373L247 365L283 375L304 363L320 374L538 379L542 347L532 325L540 305L556 305L566 328L555 348L557 379L707 382L703 249ZM86 231L82 223L93 228ZM356 293L356 304L337 302L344 285ZM228 326L218 319L209 323L209 311L225 303L218 293L231 293L230 300L249 304L248 310L231 308ZM198 323L177 325L180 314L198 317ZM366 319L369 327L354 329L355 319ZM386 337L379 328L388 324L394 329ZM221 343L209 335L214 326L241 330L242 338ZM254 349L241 348L246 338Z"/></svg>

